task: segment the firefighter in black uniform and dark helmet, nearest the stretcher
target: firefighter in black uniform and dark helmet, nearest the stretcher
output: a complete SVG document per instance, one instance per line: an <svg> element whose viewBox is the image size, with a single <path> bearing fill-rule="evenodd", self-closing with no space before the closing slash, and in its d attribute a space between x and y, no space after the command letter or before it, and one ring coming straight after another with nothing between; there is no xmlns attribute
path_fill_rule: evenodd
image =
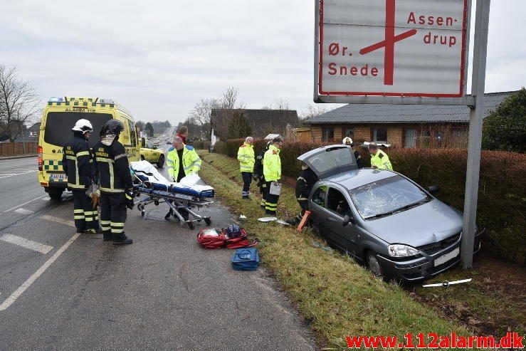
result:
<svg viewBox="0 0 526 351"><path fill-rule="evenodd" d="M100 224L104 240L113 245L133 243L125 235L126 207L133 208L133 182L125 147L118 142L124 125L108 120L100 130L100 142L93 147L95 169L100 182Z"/></svg>

